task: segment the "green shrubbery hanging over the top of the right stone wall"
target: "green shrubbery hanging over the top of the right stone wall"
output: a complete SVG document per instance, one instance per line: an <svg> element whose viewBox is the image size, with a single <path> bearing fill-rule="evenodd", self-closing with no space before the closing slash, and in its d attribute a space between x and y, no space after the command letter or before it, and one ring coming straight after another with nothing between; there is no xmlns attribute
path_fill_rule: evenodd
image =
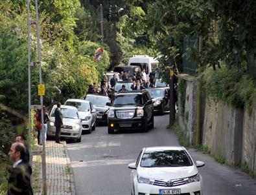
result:
<svg viewBox="0 0 256 195"><path fill-rule="evenodd" d="M216 100L229 103L233 107L247 105L251 112L251 102L255 97L255 85L242 70L229 69L226 65L216 71L207 68L203 73L202 83L205 94Z"/></svg>

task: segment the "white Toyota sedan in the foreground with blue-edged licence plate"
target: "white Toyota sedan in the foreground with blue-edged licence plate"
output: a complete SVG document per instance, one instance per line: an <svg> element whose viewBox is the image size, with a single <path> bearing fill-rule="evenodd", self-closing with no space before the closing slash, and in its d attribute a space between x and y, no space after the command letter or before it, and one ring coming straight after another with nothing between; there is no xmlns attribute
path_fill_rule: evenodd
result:
<svg viewBox="0 0 256 195"><path fill-rule="evenodd" d="M202 195L202 176L184 147L147 147L141 150L131 173L131 194Z"/></svg>

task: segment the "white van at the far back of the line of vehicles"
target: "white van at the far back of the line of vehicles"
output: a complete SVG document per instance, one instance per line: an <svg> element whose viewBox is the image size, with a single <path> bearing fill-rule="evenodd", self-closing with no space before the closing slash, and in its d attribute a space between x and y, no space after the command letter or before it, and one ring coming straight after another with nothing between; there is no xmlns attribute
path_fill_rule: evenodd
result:
<svg viewBox="0 0 256 195"><path fill-rule="evenodd" d="M139 66L141 67L141 69L145 68L147 77L150 74L150 72L157 70L158 63L159 62L156 59L154 59L154 57L149 57L146 55L135 55L130 57L128 61L129 66Z"/></svg>

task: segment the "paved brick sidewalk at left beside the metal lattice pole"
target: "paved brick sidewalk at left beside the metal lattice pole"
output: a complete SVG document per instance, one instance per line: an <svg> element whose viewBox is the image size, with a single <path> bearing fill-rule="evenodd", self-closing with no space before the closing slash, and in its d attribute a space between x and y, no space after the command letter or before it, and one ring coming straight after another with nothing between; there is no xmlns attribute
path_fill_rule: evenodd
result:
<svg viewBox="0 0 256 195"><path fill-rule="evenodd" d="M47 177L47 195L75 195L75 184L70 159L67 154L67 144L46 141L45 160ZM41 147L37 146L39 150ZM43 194L43 180L41 175L41 156L33 156L32 187L35 195Z"/></svg>

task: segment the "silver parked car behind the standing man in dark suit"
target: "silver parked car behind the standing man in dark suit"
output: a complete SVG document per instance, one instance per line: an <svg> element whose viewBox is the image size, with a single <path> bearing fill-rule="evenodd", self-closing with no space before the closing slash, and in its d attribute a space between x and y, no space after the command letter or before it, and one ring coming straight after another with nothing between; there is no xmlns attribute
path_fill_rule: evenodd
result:
<svg viewBox="0 0 256 195"><path fill-rule="evenodd" d="M50 121L47 122L48 137L55 136L56 128L54 127L54 111L56 108L57 105L54 105L52 107L52 110L50 112ZM62 112L62 118L64 123L64 127L62 127L60 130L60 137L75 139L77 142L80 142L82 138L82 120L79 117L77 108L67 105L61 105L60 112Z"/></svg>

